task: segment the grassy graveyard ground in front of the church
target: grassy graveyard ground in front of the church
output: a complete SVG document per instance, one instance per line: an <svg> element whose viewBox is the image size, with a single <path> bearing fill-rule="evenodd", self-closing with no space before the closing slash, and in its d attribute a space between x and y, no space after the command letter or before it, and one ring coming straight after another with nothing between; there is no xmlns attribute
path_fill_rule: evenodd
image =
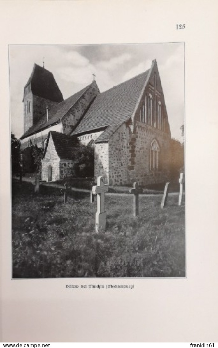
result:
<svg viewBox="0 0 218 348"><path fill-rule="evenodd" d="M106 231L94 232L96 199L12 184L12 277L185 277L185 208L178 196L106 196Z"/></svg>

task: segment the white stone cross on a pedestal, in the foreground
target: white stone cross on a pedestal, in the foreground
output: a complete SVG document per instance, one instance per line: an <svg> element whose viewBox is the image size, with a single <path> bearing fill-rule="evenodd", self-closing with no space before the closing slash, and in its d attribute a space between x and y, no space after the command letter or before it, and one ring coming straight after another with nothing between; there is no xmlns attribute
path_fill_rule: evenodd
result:
<svg viewBox="0 0 218 348"><path fill-rule="evenodd" d="M104 185L103 176L97 179L97 185L92 187L92 194L97 195L97 213L95 214L95 232L106 227L106 211L104 211L104 193L109 189L108 185Z"/></svg>

